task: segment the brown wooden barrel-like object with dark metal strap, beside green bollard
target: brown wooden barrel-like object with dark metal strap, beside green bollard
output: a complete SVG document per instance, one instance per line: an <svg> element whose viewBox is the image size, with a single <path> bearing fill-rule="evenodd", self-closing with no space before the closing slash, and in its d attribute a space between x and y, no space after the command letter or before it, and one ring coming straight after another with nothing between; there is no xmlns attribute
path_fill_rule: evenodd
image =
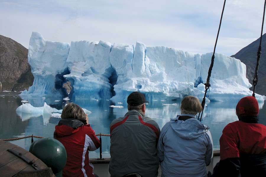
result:
<svg viewBox="0 0 266 177"><path fill-rule="evenodd" d="M1 177L55 177L52 169L29 151L10 142L0 140Z"/></svg>

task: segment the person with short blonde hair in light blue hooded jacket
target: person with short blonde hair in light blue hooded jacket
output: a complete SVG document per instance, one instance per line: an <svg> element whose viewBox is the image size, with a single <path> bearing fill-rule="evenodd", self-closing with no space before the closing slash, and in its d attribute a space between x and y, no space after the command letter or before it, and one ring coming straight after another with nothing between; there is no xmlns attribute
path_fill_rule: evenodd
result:
<svg viewBox="0 0 266 177"><path fill-rule="evenodd" d="M157 155L162 177L207 177L213 140L209 127L196 119L202 111L199 99L186 96L180 110L181 115L167 122L159 136Z"/></svg>

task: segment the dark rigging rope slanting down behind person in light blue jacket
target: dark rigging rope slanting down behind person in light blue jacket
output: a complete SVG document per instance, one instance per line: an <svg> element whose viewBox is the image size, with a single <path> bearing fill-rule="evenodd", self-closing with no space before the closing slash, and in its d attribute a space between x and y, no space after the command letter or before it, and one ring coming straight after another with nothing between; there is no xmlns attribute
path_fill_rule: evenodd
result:
<svg viewBox="0 0 266 177"><path fill-rule="evenodd" d="M203 110L204 110L204 106L205 106L205 100L206 100L205 98L206 98L207 90L210 88L210 76L211 76L212 69L213 69L213 63L214 63L214 57L215 57L214 54L215 54L215 49L216 49L216 45L217 45L217 41L218 41L218 36L219 36L220 28L221 28L221 23L222 23L223 11L224 11L224 7L225 7L225 3L226 3L226 0L224 0L224 3L223 3L223 10L222 10L220 24L219 24L219 29L218 29L218 32L217 32L217 37L216 37L216 41L215 41L215 45L214 45L213 56L212 56L210 68L209 68L209 71L208 71L207 81L204 84L205 85L205 94L204 94L204 97L203 97L202 102L201 102L202 112L201 112L201 116L200 116L200 114L198 116L198 120L200 118L200 121L201 121L202 114L203 114Z"/></svg>

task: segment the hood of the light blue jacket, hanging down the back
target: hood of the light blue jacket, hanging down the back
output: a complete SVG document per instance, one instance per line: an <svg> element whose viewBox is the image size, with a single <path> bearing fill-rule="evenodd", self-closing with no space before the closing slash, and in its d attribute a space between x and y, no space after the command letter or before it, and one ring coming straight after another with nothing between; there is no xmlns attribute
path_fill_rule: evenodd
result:
<svg viewBox="0 0 266 177"><path fill-rule="evenodd" d="M178 120L180 116L190 116L191 119L187 119L186 121ZM179 137L184 139L200 137L208 129L207 126L198 121L196 116L192 114L178 115L175 119L171 119L170 126Z"/></svg>

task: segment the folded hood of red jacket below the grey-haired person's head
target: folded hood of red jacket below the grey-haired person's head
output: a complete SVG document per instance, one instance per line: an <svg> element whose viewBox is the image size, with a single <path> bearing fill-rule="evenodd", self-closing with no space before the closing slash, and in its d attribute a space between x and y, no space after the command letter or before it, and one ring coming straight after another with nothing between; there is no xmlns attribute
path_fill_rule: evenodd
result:
<svg viewBox="0 0 266 177"><path fill-rule="evenodd" d="M55 127L54 136L64 137L72 135L79 130L84 124L77 119L62 119Z"/></svg>

